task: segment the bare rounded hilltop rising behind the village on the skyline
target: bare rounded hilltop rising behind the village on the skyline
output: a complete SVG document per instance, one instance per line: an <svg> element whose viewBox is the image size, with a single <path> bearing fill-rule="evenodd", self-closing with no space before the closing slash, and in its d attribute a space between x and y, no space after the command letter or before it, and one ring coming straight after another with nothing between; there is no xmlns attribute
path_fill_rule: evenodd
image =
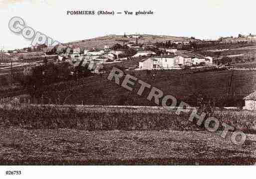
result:
<svg viewBox="0 0 256 179"><path fill-rule="evenodd" d="M135 34L133 34L135 36ZM106 35L91 39L85 39L80 41L73 41L69 43L64 43L64 45L73 45L73 47L79 47L79 48L104 48L104 45L113 45L116 43L129 43L129 42L135 42L136 38L132 38L130 36L133 35L127 35L127 37L124 37L123 35ZM165 41L189 41L191 38L188 37L175 37L175 36L168 36L168 35L149 35L149 34L142 34L140 35L140 38L138 40L139 43L144 44L151 44L155 42L165 42Z"/></svg>

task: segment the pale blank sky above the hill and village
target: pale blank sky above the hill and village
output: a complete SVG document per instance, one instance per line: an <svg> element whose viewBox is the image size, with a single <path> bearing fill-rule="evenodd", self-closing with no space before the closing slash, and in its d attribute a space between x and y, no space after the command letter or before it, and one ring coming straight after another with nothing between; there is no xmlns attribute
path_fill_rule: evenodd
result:
<svg viewBox="0 0 256 179"><path fill-rule="evenodd" d="M0 0L0 48L30 46L30 41L9 30L13 16L60 42L124 32L216 39L256 34L255 7L255 0ZM67 10L152 10L155 14L66 15Z"/></svg>

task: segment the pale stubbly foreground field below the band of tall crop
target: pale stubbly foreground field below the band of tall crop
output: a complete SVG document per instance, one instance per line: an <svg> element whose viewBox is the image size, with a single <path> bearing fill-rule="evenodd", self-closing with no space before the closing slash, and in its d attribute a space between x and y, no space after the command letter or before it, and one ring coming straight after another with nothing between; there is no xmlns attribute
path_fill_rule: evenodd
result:
<svg viewBox="0 0 256 179"><path fill-rule="evenodd" d="M210 132L0 128L0 165L254 165L256 136ZM229 135L230 136L230 135Z"/></svg>

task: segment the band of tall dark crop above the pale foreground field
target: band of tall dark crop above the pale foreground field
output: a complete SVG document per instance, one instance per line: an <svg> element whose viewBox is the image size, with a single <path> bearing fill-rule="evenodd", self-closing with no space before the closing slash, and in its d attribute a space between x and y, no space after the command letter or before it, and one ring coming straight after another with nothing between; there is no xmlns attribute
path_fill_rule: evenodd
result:
<svg viewBox="0 0 256 179"><path fill-rule="evenodd" d="M188 113L175 114L176 110L134 108L112 109L99 107L61 107L35 105L1 105L0 126L19 126L24 129L79 129L97 130L176 130L204 131L188 119ZM199 113L200 114L200 113ZM214 117L246 133L256 134L256 113L239 110L215 111ZM219 130L223 130L221 127Z"/></svg>

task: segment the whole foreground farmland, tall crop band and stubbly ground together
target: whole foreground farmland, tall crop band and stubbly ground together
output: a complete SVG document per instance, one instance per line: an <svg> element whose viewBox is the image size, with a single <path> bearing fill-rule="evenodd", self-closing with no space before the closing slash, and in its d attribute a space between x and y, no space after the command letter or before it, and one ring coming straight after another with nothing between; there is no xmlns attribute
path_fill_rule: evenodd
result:
<svg viewBox="0 0 256 179"><path fill-rule="evenodd" d="M139 108L140 109L140 108ZM63 111L64 110L64 111ZM216 111L247 133L242 146L173 110L0 108L0 165L254 165L256 114Z"/></svg>

